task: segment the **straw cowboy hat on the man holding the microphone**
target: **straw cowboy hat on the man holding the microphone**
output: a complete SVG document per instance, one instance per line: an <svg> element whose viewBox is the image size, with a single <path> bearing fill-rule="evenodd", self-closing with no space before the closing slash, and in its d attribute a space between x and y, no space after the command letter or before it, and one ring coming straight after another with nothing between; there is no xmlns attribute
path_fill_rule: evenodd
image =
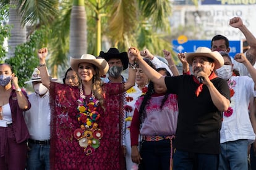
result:
<svg viewBox="0 0 256 170"><path fill-rule="evenodd" d="M224 65L223 57L218 51L211 51L207 47L198 47L195 52L185 53L187 62L192 65L194 57L208 57L215 62L215 68L218 69Z"/></svg>

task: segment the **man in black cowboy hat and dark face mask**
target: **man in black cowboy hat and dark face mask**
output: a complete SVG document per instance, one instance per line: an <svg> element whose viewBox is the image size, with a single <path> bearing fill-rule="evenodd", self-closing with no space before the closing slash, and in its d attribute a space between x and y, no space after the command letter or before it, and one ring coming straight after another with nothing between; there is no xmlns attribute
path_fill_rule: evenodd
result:
<svg viewBox="0 0 256 170"><path fill-rule="evenodd" d="M128 68L129 60L127 52L119 52L116 48L110 48L108 52L101 51L99 57L105 59L109 65L108 77L103 79L105 83L126 82L126 79L121 73Z"/></svg>

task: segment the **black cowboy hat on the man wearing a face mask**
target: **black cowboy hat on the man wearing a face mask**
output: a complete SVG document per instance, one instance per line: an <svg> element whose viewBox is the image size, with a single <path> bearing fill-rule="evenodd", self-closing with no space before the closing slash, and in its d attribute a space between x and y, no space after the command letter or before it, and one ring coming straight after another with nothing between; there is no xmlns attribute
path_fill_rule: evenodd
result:
<svg viewBox="0 0 256 170"><path fill-rule="evenodd" d="M127 52L119 52L118 49L116 48L110 48L108 50L108 52L100 52L99 57L105 59L107 62L110 59L121 59L122 65L123 65L123 69L122 70L126 70L126 68L128 68L128 63L129 63L129 59L128 59L128 55Z"/></svg>

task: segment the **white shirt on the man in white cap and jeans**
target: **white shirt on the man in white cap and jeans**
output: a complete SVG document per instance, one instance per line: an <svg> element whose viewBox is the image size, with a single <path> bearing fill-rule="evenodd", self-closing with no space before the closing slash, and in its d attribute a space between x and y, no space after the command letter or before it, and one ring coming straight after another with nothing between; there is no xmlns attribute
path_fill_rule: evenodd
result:
<svg viewBox="0 0 256 170"><path fill-rule="evenodd" d="M28 95L31 108L25 111L24 118L30 133L30 139L49 140L50 118L49 92L40 97L35 92Z"/></svg>

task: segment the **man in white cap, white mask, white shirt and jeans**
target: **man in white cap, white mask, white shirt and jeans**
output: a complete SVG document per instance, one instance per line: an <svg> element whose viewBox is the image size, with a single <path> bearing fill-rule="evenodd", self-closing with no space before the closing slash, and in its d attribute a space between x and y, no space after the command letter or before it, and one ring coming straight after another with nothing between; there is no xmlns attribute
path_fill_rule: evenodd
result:
<svg viewBox="0 0 256 170"><path fill-rule="evenodd" d="M35 68L31 79L25 82L25 84L27 83L32 83L35 91L28 95L31 108L24 113L30 133L27 169L49 169L49 124L51 116L49 92L41 82L38 68Z"/></svg>

